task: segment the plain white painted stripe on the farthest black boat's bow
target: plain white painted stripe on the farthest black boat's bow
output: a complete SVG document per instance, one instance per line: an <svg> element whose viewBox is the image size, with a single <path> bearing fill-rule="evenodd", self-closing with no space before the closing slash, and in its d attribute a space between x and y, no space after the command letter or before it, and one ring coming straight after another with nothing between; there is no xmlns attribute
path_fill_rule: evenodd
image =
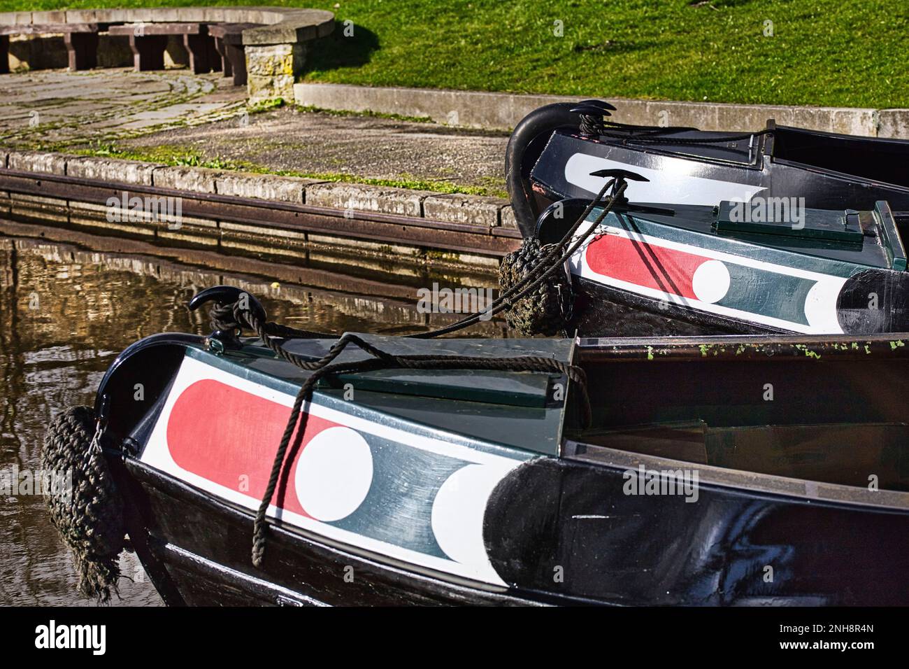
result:
<svg viewBox="0 0 909 669"><path fill-rule="evenodd" d="M664 202L679 205L708 205L713 207L721 200L747 202L755 193L766 190L761 186L695 177L692 173L701 166L694 160L660 157L660 169L640 167L611 158L576 153L565 163L565 180L591 193L600 192L606 183L604 177L591 177L598 169L628 169L649 181L629 181L625 197L633 202Z"/></svg>

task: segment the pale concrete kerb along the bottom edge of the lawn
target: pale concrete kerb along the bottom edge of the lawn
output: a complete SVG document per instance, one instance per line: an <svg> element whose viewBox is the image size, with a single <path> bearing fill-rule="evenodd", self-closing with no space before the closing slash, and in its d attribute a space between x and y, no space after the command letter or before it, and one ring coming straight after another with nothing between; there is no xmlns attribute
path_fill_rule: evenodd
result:
<svg viewBox="0 0 909 669"><path fill-rule="evenodd" d="M535 96L483 91L432 90L299 83L295 103L323 109L430 117L458 127L507 130L543 105L577 102L580 96ZM649 126L690 126L704 130L757 130L774 118L781 126L808 127L864 137L909 136L909 109L828 106L734 105L705 102L631 100L604 96L618 109L613 119Z"/></svg>

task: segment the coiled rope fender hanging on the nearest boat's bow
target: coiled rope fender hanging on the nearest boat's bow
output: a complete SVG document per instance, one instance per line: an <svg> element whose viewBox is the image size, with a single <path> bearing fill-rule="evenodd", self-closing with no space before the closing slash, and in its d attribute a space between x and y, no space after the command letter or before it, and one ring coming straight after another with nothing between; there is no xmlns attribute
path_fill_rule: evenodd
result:
<svg viewBox="0 0 909 669"><path fill-rule="evenodd" d="M106 603L117 593L124 549L123 500L99 442L95 411L63 411L45 433L41 466L71 481L45 492L51 522L73 552L79 592Z"/></svg>

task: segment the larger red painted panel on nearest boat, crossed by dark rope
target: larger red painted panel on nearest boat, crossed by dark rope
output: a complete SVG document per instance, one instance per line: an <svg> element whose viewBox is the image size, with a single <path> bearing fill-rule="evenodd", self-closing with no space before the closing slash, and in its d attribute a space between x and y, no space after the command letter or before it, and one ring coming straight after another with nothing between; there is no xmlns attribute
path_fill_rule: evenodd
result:
<svg viewBox="0 0 909 669"><path fill-rule="evenodd" d="M174 403L167 421L167 447L186 471L261 500L288 418L290 408L282 404L221 381L198 380ZM316 434L335 425L310 415L300 451ZM296 461L279 506L305 514L294 491L295 470Z"/></svg>

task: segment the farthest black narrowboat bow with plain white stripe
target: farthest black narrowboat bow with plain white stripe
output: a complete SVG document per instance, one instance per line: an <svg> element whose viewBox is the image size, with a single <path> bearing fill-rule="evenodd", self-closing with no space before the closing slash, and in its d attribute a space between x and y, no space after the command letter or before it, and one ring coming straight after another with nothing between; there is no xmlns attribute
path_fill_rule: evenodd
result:
<svg viewBox="0 0 909 669"><path fill-rule="evenodd" d="M909 140L856 137L777 126L730 133L694 127L629 126L610 120L600 100L556 103L514 128L505 178L518 227L534 232L546 207L590 199L591 173L631 170L646 177L628 189L636 202L706 205L721 200L804 198L817 209L871 209L888 201L909 218Z"/></svg>

